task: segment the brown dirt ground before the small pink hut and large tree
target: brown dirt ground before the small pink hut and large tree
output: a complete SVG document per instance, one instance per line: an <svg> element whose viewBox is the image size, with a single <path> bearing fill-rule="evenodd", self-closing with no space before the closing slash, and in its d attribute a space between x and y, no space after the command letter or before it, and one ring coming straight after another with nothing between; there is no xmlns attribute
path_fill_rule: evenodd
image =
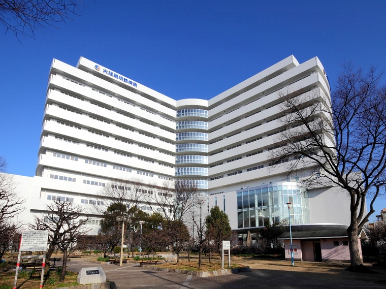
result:
<svg viewBox="0 0 386 289"><path fill-rule="evenodd" d="M291 261L279 260L261 260L251 257L236 257L234 256L231 263L239 263L249 266L251 269L286 271L288 274L303 275L309 273L323 274L326 278L344 278L350 280L366 280L377 284L386 284L386 268L372 267L372 264L364 263L364 265L375 274L369 273L353 273L346 271L348 263L321 263L321 262L295 262L295 266L291 266Z"/></svg>

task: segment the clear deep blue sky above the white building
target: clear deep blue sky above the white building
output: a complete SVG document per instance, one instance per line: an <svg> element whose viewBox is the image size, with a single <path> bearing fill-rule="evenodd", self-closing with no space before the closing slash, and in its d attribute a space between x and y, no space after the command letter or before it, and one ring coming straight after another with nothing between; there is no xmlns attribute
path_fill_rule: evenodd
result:
<svg viewBox="0 0 386 289"><path fill-rule="evenodd" d="M35 174L53 58L75 66L84 56L174 99L210 99L291 54L318 56L332 86L345 60L386 69L385 1L83 3L81 16L36 39L0 36L0 155L9 173ZM384 207L379 199L375 214Z"/></svg>

